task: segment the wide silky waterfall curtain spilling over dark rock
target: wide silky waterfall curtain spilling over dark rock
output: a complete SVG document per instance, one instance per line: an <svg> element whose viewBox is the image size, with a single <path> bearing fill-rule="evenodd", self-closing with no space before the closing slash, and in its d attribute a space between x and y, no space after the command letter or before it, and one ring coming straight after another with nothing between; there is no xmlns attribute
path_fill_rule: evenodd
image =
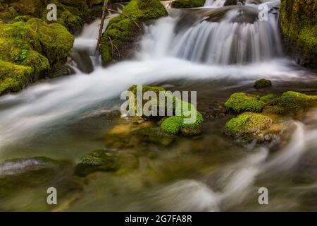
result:
<svg viewBox="0 0 317 226"><path fill-rule="evenodd" d="M180 32L171 44L171 54L205 64L246 64L273 59L282 53L278 18L257 20L254 7L226 11L220 21L202 20Z"/></svg>

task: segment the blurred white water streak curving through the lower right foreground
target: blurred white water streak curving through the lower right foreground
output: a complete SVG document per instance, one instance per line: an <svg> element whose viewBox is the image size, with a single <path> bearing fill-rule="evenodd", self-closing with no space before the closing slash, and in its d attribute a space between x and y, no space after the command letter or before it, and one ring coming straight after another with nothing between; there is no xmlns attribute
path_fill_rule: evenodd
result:
<svg viewBox="0 0 317 226"><path fill-rule="evenodd" d="M221 191L213 191L213 186L204 182L204 179L182 180L159 190L164 210L218 211L240 205L251 192L257 190L254 182L258 177L287 172L307 151L316 150L317 129L305 129L300 122L294 122L294 126L296 129L291 142L277 155L268 158L268 150L260 148L240 162L220 169L221 177L217 179L217 186L223 187Z"/></svg>

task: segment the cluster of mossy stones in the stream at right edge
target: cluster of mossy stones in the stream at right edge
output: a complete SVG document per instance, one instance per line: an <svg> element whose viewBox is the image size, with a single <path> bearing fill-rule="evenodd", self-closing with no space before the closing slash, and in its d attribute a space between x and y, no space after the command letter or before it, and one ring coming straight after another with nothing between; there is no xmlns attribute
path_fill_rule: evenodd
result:
<svg viewBox="0 0 317 226"><path fill-rule="evenodd" d="M261 109L257 108L259 102ZM244 143L273 143L276 148L289 138L292 117L301 117L302 113L316 106L316 95L294 91L287 91L282 95L270 93L263 97L235 93L226 102L226 107L241 114L225 124L225 133ZM251 112L251 109L259 113Z"/></svg>

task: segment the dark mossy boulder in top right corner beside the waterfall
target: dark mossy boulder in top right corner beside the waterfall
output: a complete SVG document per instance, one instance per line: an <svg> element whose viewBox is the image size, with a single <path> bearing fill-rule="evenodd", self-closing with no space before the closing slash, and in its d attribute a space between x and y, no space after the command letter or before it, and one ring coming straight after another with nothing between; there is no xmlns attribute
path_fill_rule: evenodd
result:
<svg viewBox="0 0 317 226"><path fill-rule="evenodd" d="M317 67L317 1L282 0L283 44L299 64Z"/></svg>

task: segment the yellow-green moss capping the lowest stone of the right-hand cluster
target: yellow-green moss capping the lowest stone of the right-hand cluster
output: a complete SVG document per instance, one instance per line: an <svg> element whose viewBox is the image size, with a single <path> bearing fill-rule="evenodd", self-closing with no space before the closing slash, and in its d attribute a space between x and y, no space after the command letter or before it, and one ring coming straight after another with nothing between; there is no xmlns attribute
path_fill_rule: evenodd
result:
<svg viewBox="0 0 317 226"><path fill-rule="evenodd" d="M230 136L244 136L250 133L259 133L268 129L273 120L262 114L244 112L225 124L225 131Z"/></svg>

